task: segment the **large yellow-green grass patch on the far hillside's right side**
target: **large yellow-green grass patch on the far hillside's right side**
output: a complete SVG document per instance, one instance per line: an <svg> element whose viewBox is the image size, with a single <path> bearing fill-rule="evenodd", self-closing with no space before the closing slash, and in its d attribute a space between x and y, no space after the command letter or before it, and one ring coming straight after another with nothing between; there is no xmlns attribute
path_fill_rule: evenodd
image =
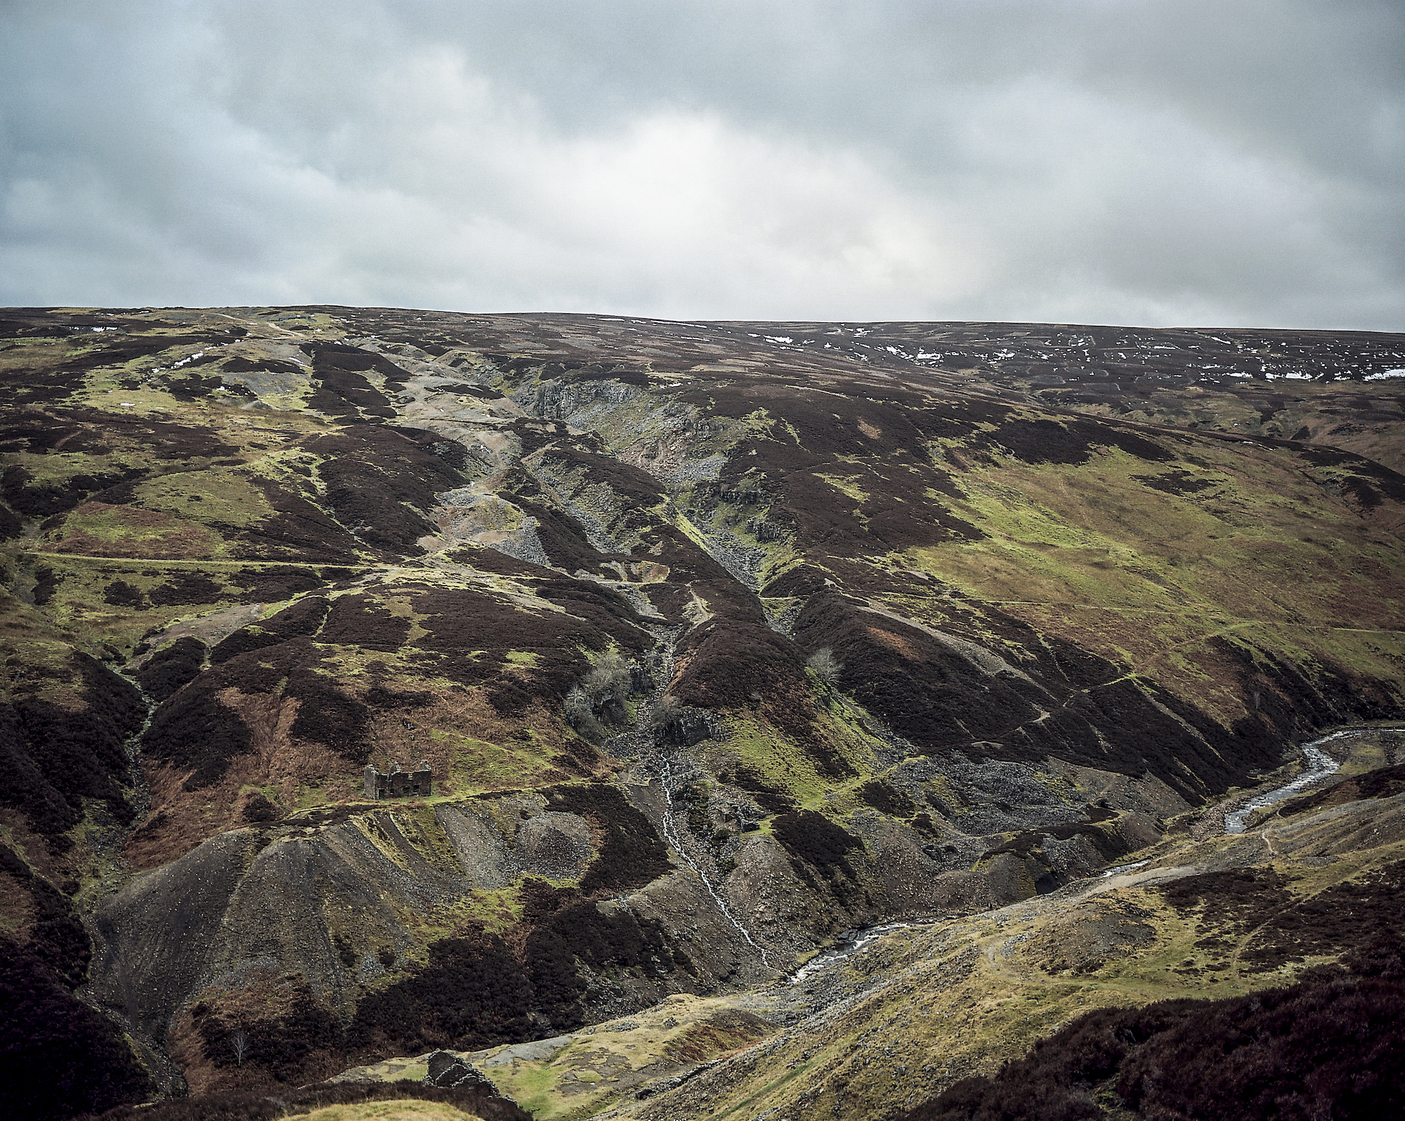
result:
<svg viewBox="0 0 1405 1121"><path fill-rule="evenodd" d="M1141 482L1173 471L1213 486L1183 496ZM1245 709L1217 638L1260 662L1272 653L1398 678L1405 603L1392 589L1405 584L1405 556L1288 452L1197 447L1194 461L1148 464L1107 450L1079 466L1000 458L960 486L955 511L986 537L884 563L930 573L964 598L889 593L901 615L940 627L964 614L968 631L979 618L967 604L991 604L1227 721Z"/></svg>

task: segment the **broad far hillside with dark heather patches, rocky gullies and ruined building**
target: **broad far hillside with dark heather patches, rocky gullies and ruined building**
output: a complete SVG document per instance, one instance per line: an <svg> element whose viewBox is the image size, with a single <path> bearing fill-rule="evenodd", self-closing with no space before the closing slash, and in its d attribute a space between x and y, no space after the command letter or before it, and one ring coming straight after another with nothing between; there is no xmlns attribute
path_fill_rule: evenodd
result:
<svg viewBox="0 0 1405 1121"><path fill-rule="evenodd" d="M8 992L42 978L67 1025L35 1070L101 1072L51 1113L631 1016L676 1021L624 1031L681 1069L819 1014L739 995L854 929L927 923L884 965L920 973L991 923L1057 941L1052 900L1141 850L1257 867L1225 809L1405 718L1401 336L347 308L0 336ZM367 796L422 761L427 795ZM1159 945L1180 912L1139 884ZM835 1096L785 1030L806 1101L916 1104Z"/></svg>

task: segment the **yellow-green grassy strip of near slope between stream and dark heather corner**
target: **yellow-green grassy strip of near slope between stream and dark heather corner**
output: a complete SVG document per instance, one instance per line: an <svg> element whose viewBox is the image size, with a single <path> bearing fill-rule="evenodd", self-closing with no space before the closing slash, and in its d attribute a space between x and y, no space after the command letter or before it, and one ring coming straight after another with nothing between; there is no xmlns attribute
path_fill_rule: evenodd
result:
<svg viewBox="0 0 1405 1121"><path fill-rule="evenodd" d="M1361 739L1343 760L1347 770L1405 749L1398 732ZM1373 930L1394 922L1395 889L1383 896L1381 913L1354 930L1319 923L1304 937L1293 917L1321 907L1343 885L1366 885L1383 872L1398 878L1405 785L1402 768L1391 770L1397 794L1385 804L1347 802L1346 812L1304 806L1246 837L1196 841L1183 826L1144 850L1137 868L965 919L885 929L851 952L818 957L798 978L733 997L670 997L643 1017L465 1058L537 1117L910 1108L962 1076L993 1075L1092 1010L1238 996L1283 985L1305 965L1370 941ZM1366 847L1363 826L1371 830ZM724 1010L759 1017L766 1034L719 1034L718 1058L690 1063L680 1056L680 1038L718 1023ZM340 1077L422 1073L423 1061L410 1056ZM582 1099L589 1111L580 1110Z"/></svg>

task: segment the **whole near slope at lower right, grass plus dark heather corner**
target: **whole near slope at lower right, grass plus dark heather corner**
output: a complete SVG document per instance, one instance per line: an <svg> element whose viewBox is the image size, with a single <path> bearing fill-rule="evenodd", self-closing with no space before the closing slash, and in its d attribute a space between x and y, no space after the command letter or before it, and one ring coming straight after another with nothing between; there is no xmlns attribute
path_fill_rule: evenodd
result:
<svg viewBox="0 0 1405 1121"><path fill-rule="evenodd" d="M1312 1089L1338 1104L1316 1103L1318 1115L1385 1115L1405 1089L1397 1013L1405 767L1374 764L1402 754L1405 736L1361 733L1343 767L1356 777L1283 806L1246 834L1196 840L1183 822L1130 865L1048 895L894 924L746 993L674 996L643 1016L465 1058L540 1118L861 1118L915 1108L913 1121L1096 1120L1139 1115L1121 1111L1114 1096L1118 1066L1134 1076L1155 1066L1121 1061L1177 1020L1200 1017L1176 1065L1193 1072L1180 1082L1203 1083L1211 1100L1189 1115L1312 1115L1294 1111L1281 1092L1318 1068ZM1387 989L1375 1023L1353 1021L1345 1007L1324 1014L1325 1003L1350 1006L1373 986ZM1290 1069L1274 1070L1281 1055L1260 1045L1287 1032L1272 1023L1248 1040L1229 1032L1234 1045L1222 1052L1197 1047L1213 1034L1203 1021L1218 1014L1235 1025L1234 1017L1272 1010L1295 989L1318 997L1307 1017L1294 1009L1302 1032L1318 1042L1340 1031L1345 1061L1298 1041ZM715 1041L711 1054L688 1051L701 1040ZM1259 1054L1224 1061L1246 1042ZM1343 1041L1332 1042L1340 1052ZM1373 1062L1385 1075L1374 1087L1361 1076ZM340 1079L375 1086L420 1073L423 1063L423 1055L406 1056ZM1378 1097L1353 1106L1350 1090L1333 1082ZM1176 1083L1162 1072L1163 1092L1182 1089ZM1260 1114L1250 1103L1264 1084L1277 1100L1270 1094ZM995 1110L976 1114L981 1104Z"/></svg>

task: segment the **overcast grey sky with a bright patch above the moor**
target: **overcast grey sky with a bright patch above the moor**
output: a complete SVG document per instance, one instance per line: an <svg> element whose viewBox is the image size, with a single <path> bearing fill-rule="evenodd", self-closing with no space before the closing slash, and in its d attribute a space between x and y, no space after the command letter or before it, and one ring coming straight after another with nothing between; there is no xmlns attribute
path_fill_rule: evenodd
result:
<svg viewBox="0 0 1405 1121"><path fill-rule="evenodd" d="M1405 3L0 0L0 305L1405 330Z"/></svg>

